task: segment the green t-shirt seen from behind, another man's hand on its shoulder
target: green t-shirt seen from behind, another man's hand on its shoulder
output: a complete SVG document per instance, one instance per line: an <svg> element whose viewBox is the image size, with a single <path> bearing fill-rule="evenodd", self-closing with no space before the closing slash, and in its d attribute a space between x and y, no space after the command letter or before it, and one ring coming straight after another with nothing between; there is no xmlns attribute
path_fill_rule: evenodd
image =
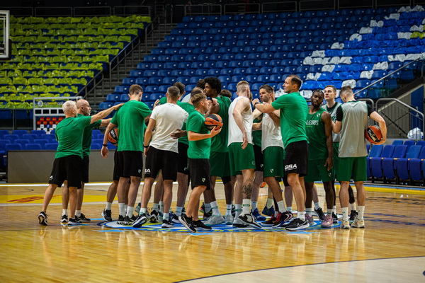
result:
<svg viewBox="0 0 425 283"><path fill-rule="evenodd" d="M142 129L145 118L151 113L145 103L137 100L130 100L121 106L111 120L120 129L117 151L143 151Z"/></svg>

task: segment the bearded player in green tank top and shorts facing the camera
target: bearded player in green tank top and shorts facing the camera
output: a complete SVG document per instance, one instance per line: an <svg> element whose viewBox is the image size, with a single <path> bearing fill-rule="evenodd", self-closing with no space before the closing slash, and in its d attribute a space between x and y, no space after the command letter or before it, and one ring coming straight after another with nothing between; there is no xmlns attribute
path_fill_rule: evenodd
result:
<svg viewBox="0 0 425 283"><path fill-rule="evenodd" d="M332 120L331 115L320 106L323 103L324 93L317 90L312 93L312 105L307 112L306 131L310 141L308 155L308 174L305 176L305 212L310 226L314 225L312 217L312 200L314 181L323 182L326 194L328 214L322 219L321 226L330 228L333 223L332 208L334 207L334 191L331 188L334 180L333 146L332 146ZM322 209L320 209L321 211ZM320 215L319 215L320 216Z"/></svg>

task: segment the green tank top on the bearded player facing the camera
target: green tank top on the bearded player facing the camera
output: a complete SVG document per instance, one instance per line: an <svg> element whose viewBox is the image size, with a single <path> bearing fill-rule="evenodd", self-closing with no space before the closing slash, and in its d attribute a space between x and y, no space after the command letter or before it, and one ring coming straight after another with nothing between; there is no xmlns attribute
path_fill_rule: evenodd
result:
<svg viewBox="0 0 425 283"><path fill-rule="evenodd" d="M305 129L308 137L308 160L326 159L328 156L326 146L326 134L322 114L324 110L320 108L314 114L307 112Z"/></svg>

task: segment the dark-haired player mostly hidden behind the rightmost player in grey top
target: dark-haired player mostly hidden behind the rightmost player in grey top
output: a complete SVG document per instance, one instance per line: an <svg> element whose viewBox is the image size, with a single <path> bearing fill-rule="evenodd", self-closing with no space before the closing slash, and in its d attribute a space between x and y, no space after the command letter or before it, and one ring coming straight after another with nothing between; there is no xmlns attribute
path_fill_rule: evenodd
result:
<svg viewBox="0 0 425 283"><path fill-rule="evenodd" d="M335 101L336 97L336 88L334 86L326 86L324 88L324 100L326 100L326 105L323 105L322 108L329 112L331 115L332 122L336 121L336 110L341 106L341 103ZM339 154L338 154L338 147L339 147L339 141L341 140L341 133L334 133L332 132L332 141L333 147L334 147L334 173L335 177L338 178L338 171L339 171ZM336 216L336 192L335 192L335 180L332 180L332 190L334 191L334 207L332 212L332 219L334 220L334 223L338 223L338 217ZM354 199L354 193L353 188L351 185L348 186L348 195L349 195L349 202L350 202L350 222L353 222L356 219L357 211L356 211L356 200ZM327 209L330 209L328 207ZM328 212L329 213L329 212Z"/></svg>

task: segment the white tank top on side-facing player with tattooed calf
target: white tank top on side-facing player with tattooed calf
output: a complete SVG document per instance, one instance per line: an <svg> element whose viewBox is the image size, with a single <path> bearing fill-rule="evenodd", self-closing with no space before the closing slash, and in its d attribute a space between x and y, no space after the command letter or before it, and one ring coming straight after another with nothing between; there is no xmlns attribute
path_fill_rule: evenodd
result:
<svg viewBox="0 0 425 283"><path fill-rule="evenodd" d="M234 117L233 117L233 110L234 110L234 107L236 106L236 103L239 100L244 98L247 99L244 96L239 96L237 98L234 98L234 100L229 106L229 141L227 143L228 146L234 142L242 143L243 141L242 131L239 129L239 127L237 127L236 121L234 120ZM252 144L252 109L251 108L248 108L248 110L245 110L244 112L242 112L242 122L244 122L244 129L246 132L246 137L248 139L248 142L249 144Z"/></svg>

